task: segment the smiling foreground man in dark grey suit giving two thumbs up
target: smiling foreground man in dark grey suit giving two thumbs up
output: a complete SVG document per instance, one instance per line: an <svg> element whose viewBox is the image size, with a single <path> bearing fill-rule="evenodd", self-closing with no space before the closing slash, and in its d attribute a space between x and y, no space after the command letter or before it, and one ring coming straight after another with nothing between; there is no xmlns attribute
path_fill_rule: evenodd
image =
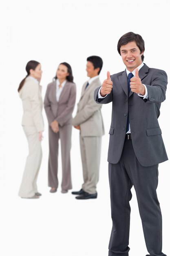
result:
<svg viewBox="0 0 170 256"><path fill-rule="evenodd" d="M113 228L109 256L128 256L130 189L134 186L142 220L147 256L162 252L162 218L157 199L158 164L168 160L158 123L161 102L166 97L167 75L143 63L144 40L128 32L121 36L117 50L126 70L107 73L95 101L112 102L108 148ZM141 252L136 252L139 255Z"/></svg>

